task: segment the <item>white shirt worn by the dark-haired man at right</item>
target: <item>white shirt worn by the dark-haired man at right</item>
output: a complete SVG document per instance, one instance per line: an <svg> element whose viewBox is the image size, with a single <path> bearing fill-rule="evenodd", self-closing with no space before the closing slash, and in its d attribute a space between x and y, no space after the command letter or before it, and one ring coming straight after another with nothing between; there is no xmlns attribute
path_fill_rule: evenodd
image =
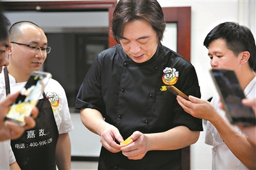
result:
<svg viewBox="0 0 256 170"><path fill-rule="evenodd" d="M246 86L244 89L244 95L246 98L255 98L256 94L256 77ZM216 94L212 98L212 105L214 105L216 111L228 121L225 111L219 109L219 95ZM235 125L232 125L237 132L243 134L241 130ZM225 142L219 135L218 131L207 121L207 130L205 135L205 143L213 146L212 148L212 169L248 169L244 164L229 150Z"/></svg>

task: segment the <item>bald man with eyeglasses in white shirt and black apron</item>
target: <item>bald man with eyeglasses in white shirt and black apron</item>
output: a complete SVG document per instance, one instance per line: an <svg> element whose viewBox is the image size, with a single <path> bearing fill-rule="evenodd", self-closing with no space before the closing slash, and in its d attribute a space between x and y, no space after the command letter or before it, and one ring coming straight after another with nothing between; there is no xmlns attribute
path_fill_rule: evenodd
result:
<svg viewBox="0 0 256 170"><path fill-rule="evenodd" d="M33 22L17 22L9 31L9 65L0 74L1 98L21 89L31 73L40 70L51 51L44 31ZM53 95L55 101L49 101ZM51 79L37 107L36 127L11 141L17 163L21 169L71 169L69 132L74 127L64 88Z"/></svg>

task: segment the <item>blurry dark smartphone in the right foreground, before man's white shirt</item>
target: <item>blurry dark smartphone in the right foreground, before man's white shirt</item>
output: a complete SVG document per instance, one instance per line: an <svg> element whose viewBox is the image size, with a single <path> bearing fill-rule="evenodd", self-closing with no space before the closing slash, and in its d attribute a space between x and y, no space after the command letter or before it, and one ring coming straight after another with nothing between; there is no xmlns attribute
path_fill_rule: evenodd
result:
<svg viewBox="0 0 256 170"><path fill-rule="evenodd" d="M210 71L230 123L255 125L256 118L251 107L242 104L244 91L233 70L213 69Z"/></svg>

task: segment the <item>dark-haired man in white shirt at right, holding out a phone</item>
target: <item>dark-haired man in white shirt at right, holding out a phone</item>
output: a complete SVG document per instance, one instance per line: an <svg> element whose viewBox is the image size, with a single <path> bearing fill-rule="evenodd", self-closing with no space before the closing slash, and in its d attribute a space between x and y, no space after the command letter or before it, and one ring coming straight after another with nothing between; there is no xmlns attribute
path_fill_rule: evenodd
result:
<svg viewBox="0 0 256 170"><path fill-rule="evenodd" d="M224 22L214 27L203 43L209 49L213 69L234 70L246 98L256 94L256 46L248 27ZM213 146L212 169L256 169L256 146L235 125L231 125L225 112L219 108L219 95L211 104L190 96L186 101L177 97L186 112L207 121L205 143Z"/></svg>

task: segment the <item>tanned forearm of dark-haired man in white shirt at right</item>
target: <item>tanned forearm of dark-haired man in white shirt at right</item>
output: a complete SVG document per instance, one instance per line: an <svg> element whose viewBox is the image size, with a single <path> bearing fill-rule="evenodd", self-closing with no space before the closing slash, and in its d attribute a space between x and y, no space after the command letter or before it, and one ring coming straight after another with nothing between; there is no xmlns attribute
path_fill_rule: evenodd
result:
<svg viewBox="0 0 256 170"><path fill-rule="evenodd" d="M234 153L245 166L250 169L256 169L256 146L250 143L245 135L237 132L230 123L223 118L211 122L225 141L228 148Z"/></svg>

